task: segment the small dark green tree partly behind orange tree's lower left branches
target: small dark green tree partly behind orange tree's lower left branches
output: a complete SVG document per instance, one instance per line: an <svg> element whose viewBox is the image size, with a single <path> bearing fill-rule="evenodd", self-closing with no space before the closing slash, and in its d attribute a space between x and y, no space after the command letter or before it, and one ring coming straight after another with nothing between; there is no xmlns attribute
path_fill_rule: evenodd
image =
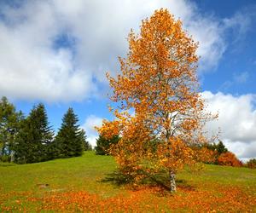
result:
<svg viewBox="0 0 256 213"><path fill-rule="evenodd" d="M102 135L99 135L99 138L97 138L96 140L96 154L108 155L108 150L111 147L111 145L117 144L119 140L119 135L113 135L113 137L110 139L106 139Z"/></svg>

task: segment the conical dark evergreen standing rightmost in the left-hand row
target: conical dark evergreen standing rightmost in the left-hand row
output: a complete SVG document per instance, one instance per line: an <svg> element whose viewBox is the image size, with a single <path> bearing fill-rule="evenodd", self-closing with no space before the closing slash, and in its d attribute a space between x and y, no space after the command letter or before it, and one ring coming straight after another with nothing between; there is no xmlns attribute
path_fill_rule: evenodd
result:
<svg viewBox="0 0 256 213"><path fill-rule="evenodd" d="M84 152L85 133L79 129L78 116L69 108L62 118L61 129L55 137L55 158L80 156Z"/></svg>

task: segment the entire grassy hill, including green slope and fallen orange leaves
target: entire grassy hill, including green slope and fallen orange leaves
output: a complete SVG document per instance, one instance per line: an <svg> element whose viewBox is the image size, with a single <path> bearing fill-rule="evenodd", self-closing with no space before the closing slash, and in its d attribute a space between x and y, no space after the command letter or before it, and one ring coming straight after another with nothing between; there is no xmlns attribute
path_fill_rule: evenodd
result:
<svg viewBox="0 0 256 213"><path fill-rule="evenodd" d="M115 169L112 157L93 152L38 164L0 164L0 212L256 212L256 170L217 165L184 170L171 194L165 187L134 189L106 181Z"/></svg>

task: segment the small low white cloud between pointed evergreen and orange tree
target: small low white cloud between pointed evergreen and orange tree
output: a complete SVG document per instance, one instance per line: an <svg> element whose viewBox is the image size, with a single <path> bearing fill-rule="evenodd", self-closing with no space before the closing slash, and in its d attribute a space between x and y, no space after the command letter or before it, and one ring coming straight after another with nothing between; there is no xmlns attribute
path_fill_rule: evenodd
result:
<svg viewBox="0 0 256 213"><path fill-rule="evenodd" d="M95 127L99 127L102 125L102 118L98 118L95 115L90 115L88 118L85 119L82 128L85 130L87 135L87 141L95 147L96 146L96 138L98 137L98 133L95 130Z"/></svg>

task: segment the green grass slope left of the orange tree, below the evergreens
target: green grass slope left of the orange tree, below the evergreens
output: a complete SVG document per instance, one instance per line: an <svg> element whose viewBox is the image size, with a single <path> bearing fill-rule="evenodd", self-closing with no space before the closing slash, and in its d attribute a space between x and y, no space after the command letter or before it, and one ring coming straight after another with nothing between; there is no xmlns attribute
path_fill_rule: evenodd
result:
<svg viewBox="0 0 256 213"><path fill-rule="evenodd" d="M116 167L113 158L85 152L82 157L55 159L37 164L6 166L0 164L0 192L30 191L38 193L38 184L49 184L41 191L86 190L90 193L116 193L108 183L102 183L106 174Z"/></svg>

